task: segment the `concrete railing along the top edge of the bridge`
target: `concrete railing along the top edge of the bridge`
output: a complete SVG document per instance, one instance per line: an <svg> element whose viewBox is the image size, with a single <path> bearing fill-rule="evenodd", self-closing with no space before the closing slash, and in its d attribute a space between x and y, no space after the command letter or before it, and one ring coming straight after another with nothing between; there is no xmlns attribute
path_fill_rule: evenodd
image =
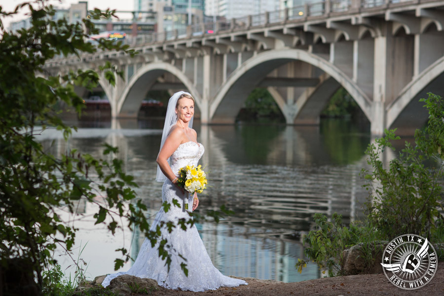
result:
<svg viewBox="0 0 444 296"><path fill-rule="evenodd" d="M271 11L256 15L248 15L233 18L230 21L218 21L216 23L194 24L173 31L152 33L137 37L128 36L125 42L130 45L143 45L158 43L166 40L191 38L217 34L219 32L234 32L247 30L251 27L260 27L304 19L306 17L328 16L331 12L345 13L351 9L372 8L390 3L413 2L414 0L325 0L321 2L305 3L305 5ZM357 6L357 7L353 7Z"/></svg>

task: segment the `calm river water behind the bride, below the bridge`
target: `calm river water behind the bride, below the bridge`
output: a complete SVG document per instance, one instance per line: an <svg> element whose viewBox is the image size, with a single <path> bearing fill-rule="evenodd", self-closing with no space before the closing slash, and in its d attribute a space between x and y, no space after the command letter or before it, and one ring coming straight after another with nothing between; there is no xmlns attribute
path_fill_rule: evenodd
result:
<svg viewBox="0 0 444 296"><path fill-rule="evenodd" d="M103 157L103 143L119 148L124 169L135 177L139 198L152 217L161 206L161 184L155 182L155 159L163 122L114 121L77 123L78 132L66 143L47 130L44 147L60 155L69 149ZM322 274L315 264L298 273L303 257L301 235L313 229L315 213L340 213L345 221L359 219L367 192L361 185L364 151L370 143L368 127L345 119L321 120L319 126L219 125L195 122L198 142L205 146L200 164L210 171L208 195L200 196L200 213L226 205L235 214L220 223L197 225L214 265L226 275L297 282ZM125 225L115 236L94 225L95 206L81 201L83 217L73 257L85 262L86 275L113 272L114 250L125 246L135 258L144 240ZM64 219L71 217L66 213ZM81 254L78 255L79 251ZM72 260L55 254L66 273ZM127 270L127 262L120 270Z"/></svg>

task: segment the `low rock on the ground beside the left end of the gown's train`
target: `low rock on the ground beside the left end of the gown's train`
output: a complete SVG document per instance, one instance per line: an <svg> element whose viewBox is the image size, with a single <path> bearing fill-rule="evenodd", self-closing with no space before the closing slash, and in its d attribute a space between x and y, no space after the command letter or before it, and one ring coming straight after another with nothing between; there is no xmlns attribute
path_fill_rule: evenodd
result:
<svg viewBox="0 0 444 296"><path fill-rule="evenodd" d="M111 280L108 289L117 295L124 295L131 293L149 293L150 291L157 290L159 285L155 280L142 279L133 275L120 275Z"/></svg>

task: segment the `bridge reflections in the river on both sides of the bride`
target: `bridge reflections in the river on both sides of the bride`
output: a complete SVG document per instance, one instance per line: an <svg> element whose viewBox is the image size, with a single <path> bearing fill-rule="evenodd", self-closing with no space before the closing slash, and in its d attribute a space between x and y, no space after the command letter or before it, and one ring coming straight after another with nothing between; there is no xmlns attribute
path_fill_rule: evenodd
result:
<svg viewBox="0 0 444 296"><path fill-rule="evenodd" d="M263 138L254 134L258 130ZM54 153L78 147L99 156L102 147L97 138L105 137L107 143L119 148L115 156L123 159L125 169L138 179L139 195L146 197L150 208L158 209L160 186L147 177L156 168L158 132L97 129L93 138L91 131L84 132L88 138L74 137L68 147L56 141ZM285 126L203 125L198 134L206 147L200 163L209 165L214 185L209 189L212 198L203 198L204 207L227 204L236 211L233 221L275 228L285 225L292 230L306 230L313 213L330 216L338 212L351 220L362 216L360 207L366 194L359 172L369 138L357 135L329 140L321 138L315 127ZM356 138L359 142L353 142ZM359 153L353 156L346 148L335 148L343 146L341 141L353 142ZM351 155L352 159L332 165L340 159L334 153Z"/></svg>

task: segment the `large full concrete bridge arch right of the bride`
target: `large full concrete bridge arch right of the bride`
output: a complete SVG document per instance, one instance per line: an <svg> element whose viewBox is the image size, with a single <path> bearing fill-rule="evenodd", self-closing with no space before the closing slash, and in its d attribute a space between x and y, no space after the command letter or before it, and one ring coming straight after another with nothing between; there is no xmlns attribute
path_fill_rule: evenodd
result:
<svg viewBox="0 0 444 296"><path fill-rule="evenodd" d="M240 110L243 104L243 101L237 98L246 98L264 77L264 73L268 74L272 70L295 60L311 64L333 77L355 99L371 122L371 101L356 83L333 64L301 49L264 51L240 65L230 74L211 102L209 109L210 122L217 116L219 123L232 123L233 107L234 110ZM222 101L227 102L227 104L221 104Z"/></svg>

